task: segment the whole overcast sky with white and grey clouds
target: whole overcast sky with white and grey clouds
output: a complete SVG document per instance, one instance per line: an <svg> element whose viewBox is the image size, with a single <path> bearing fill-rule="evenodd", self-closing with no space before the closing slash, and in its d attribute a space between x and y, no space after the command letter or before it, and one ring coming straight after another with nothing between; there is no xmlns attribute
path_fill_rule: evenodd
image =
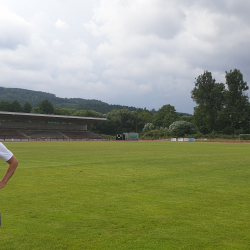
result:
<svg viewBox="0 0 250 250"><path fill-rule="evenodd" d="M250 83L248 0L0 0L0 86L193 113L195 77Z"/></svg>

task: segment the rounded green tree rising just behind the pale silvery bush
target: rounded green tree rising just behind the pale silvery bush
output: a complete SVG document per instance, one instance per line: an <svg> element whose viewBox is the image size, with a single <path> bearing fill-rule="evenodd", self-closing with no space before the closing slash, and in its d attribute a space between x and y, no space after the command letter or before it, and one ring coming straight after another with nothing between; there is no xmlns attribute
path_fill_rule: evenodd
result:
<svg viewBox="0 0 250 250"><path fill-rule="evenodd" d="M169 127L171 123L178 119L178 114L174 106L170 104L162 106L154 115L153 123L156 127Z"/></svg>

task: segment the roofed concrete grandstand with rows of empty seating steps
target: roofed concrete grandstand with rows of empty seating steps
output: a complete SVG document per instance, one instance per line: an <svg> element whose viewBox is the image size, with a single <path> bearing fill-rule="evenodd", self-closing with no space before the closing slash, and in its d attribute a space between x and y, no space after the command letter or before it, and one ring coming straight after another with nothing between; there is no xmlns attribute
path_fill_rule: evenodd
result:
<svg viewBox="0 0 250 250"><path fill-rule="evenodd" d="M105 140L88 125L106 118L0 111L0 141Z"/></svg>

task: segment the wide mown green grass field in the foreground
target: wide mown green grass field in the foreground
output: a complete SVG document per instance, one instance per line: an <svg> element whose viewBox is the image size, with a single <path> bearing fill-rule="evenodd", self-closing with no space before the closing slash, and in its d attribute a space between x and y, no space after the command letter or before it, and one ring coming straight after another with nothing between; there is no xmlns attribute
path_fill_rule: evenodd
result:
<svg viewBox="0 0 250 250"><path fill-rule="evenodd" d="M250 144L5 145L1 250L250 249Z"/></svg>

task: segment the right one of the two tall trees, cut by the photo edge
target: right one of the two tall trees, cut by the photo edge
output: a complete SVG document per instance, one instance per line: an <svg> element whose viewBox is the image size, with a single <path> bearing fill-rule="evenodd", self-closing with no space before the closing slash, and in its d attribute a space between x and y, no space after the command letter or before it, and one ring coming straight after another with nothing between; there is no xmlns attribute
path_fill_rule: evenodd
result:
<svg viewBox="0 0 250 250"><path fill-rule="evenodd" d="M248 90L240 70L226 71L225 113L230 120L231 131L249 127L249 100L244 91Z"/></svg>

